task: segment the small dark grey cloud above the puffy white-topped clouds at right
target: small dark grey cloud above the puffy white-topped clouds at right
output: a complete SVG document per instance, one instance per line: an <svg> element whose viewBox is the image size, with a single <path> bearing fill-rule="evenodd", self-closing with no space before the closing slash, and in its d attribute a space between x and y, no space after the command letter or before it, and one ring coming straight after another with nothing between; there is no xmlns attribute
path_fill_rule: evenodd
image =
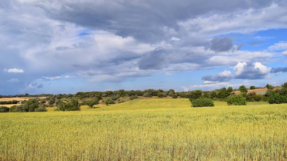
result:
<svg viewBox="0 0 287 161"><path fill-rule="evenodd" d="M211 43L210 50L216 52L229 51L233 47L232 39L229 37L214 38L210 41L210 43Z"/></svg>

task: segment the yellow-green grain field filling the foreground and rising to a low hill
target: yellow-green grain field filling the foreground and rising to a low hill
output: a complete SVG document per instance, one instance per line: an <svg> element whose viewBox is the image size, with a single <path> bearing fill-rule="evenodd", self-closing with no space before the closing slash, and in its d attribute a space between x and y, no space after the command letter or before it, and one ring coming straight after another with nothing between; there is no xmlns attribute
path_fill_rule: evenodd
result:
<svg viewBox="0 0 287 161"><path fill-rule="evenodd" d="M0 160L286 160L287 104L253 104L149 99L0 113Z"/></svg>

